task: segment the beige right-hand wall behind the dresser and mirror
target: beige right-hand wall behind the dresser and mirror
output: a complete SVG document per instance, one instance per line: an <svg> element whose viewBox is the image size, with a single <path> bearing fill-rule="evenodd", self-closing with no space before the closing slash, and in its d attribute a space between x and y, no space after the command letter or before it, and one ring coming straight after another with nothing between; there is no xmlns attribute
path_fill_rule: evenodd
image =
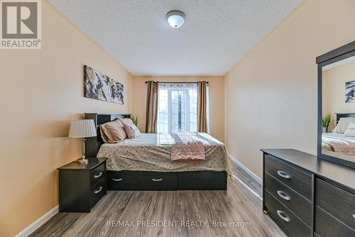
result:
<svg viewBox="0 0 355 237"><path fill-rule="evenodd" d="M307 1L226 75L225 142L261 177L260 148L317 153L315 57L355 40L354 0Z"/></svg>

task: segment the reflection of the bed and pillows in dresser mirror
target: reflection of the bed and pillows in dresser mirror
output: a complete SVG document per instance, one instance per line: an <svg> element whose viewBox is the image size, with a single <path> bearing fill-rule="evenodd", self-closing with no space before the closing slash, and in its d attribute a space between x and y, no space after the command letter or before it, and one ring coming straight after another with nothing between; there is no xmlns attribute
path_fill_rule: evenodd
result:
<svg viewBox="0 0 355 237"><path fill-rule="evenodd" d="M348 119L351 123L355 121L355 113L352 114L336 114L337 125L340 119ZM347 125L347 123L346 123ZM345 126L346 126L345 125ZM346 130L346 128L345 128ZM322 153L326 155L332 155L332 153L341 153L344 155L355 155L355 137L345 136L344 133L332 132L322 134Z"/></svg>

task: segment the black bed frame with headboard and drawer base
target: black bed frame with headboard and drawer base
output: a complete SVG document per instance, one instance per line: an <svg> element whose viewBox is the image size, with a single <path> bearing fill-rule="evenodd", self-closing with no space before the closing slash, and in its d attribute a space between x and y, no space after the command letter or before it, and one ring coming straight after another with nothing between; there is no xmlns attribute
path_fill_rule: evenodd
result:
<svg viewBox="0 0 355 237"><path fill-rule="evenodd" d="M85 114L97 126L97 136L85 141L85 156L96 157L104 143L99 126L131 114ZM185 172L153 172L107 170L107 190L226 190L226 171L197 170Z"/></svg>

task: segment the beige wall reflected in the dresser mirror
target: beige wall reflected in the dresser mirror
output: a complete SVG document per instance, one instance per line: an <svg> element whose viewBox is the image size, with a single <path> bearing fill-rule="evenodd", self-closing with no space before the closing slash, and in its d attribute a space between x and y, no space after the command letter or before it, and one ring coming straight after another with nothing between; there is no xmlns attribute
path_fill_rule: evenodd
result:
<svg viewBox="0 0 355 237"><path fill-rule="evenodd" d="M323 114L331 114L332 131L337 121L335 113L355 113L355 103L345 103L345 82L355 80L355 62L324 70L322 74Z"/></svg>

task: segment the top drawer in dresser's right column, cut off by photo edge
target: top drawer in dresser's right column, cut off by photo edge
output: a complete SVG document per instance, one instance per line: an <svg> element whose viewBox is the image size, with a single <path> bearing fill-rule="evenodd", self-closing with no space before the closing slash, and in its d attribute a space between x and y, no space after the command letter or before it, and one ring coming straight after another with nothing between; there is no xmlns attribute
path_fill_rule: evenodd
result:
<svg viewBox="0 0 355 237"><path fill-rule="evenodd" d="M315 204L339 221L355 229L355 195L344 189L316 180Z"/></svg>

